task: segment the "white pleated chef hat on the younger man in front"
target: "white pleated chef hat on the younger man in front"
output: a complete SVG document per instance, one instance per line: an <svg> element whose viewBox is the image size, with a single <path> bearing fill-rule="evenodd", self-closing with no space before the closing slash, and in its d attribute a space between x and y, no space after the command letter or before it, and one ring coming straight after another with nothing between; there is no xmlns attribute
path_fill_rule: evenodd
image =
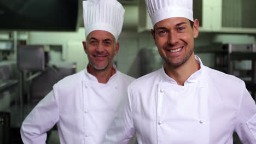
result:
<svg viewBox="0 0 256 144"><path fill-rule="evenodd" d="M170 17L193 19L193 0L145 0L154 26L156 22Z"/></svg>

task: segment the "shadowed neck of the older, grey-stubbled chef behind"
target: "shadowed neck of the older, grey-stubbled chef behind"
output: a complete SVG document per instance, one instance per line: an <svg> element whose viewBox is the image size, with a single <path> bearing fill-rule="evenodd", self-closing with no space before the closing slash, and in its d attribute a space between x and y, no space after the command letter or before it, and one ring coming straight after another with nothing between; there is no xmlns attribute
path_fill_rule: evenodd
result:
<svg viewBox="0 0 256 144"><path fill-rule="evenodd" d="M107 83L110 77L116 73L112 63L104 70L97 70L89 63L87 71L88 73L94 75L99 83Z"/></svg>

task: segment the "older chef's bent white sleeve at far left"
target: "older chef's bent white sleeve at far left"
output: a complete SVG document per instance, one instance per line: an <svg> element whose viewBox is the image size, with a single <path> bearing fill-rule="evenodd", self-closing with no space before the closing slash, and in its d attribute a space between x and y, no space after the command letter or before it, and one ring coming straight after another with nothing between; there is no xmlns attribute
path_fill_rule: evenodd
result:
<svg viewBox="0 0 256 144"><path fill-rule="evenodd" d="M21 125L24 143L45 143L46 132L59 121L59 103L54 91L48 93L25 118Z"/></svg>

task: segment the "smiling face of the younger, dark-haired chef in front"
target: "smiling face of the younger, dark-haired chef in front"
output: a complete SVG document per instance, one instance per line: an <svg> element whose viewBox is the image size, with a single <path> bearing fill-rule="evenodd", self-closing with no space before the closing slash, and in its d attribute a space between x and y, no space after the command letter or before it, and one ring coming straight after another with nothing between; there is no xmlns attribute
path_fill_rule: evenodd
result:
<svg viewBox="0 0 256 144"><path fill-rule="evenodd" d="M171 17L159 21L152 30L155 45L165 63L179 66L187 62L194 52L194 38L198 35L199 22L193 28L184 17Z"/></svg>

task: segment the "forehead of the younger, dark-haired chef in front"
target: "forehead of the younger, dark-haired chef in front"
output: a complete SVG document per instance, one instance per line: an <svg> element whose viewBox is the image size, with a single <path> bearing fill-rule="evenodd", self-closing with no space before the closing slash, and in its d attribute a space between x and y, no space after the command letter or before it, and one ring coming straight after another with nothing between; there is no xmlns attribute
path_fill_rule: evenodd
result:
<svg viewBox="0 0 256 144"><path fill-rule="evenodd" d="M187 18L184 17L171 17L165 20L161 20L157 23L155 23L154 28L158 28L158 27L172 27L172 26L176 26L180 23L184 23L184 24L189 24L189 20Z"/></svg>

